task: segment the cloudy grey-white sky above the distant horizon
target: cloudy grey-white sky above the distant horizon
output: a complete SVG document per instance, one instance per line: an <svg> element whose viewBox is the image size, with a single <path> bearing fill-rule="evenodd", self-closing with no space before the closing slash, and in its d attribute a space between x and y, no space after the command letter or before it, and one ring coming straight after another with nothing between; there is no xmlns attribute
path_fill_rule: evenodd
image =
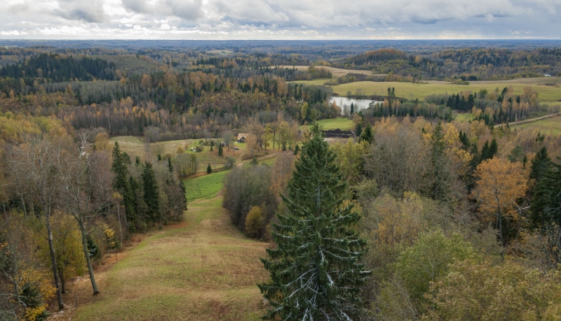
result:
<svg viewBox="0 0 561 321"><path fill-rule="evenodd" d="M0 0L2 39L561 39L561 0Z"/></svg>

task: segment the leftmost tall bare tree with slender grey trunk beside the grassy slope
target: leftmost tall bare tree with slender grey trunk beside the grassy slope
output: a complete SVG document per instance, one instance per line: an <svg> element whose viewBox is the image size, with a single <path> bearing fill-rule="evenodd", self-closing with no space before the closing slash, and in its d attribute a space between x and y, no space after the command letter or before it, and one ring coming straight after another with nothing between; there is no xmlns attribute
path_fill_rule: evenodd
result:
<svg viewBox="0 0 561 321"><path fill-rule="evenodd" d="M8 157L8 173L12 180L24 179L29 194L42 208L43 223L47 229L47 240L50 252L50 263L58 299L58 308L65 308L60 290L55 248L53 245L53 229L50 226L50 215L60 197L62 176L60 171L67 166L68 154L63 147L62 138L26 138L24 143L16 145Z"/></svg>

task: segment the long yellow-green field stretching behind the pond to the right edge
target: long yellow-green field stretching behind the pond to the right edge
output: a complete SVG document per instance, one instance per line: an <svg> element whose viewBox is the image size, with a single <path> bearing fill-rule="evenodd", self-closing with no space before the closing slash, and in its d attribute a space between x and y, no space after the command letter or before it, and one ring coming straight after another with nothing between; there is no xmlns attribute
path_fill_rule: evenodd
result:
<svg viewBox="0 0 561 321"><path fill-rule="evenodd" d="M297 83L306 83L311 85L323 85L326 79L299 81ZM546 85L548 84L548 85ZM396 96L405 99L424 99L431 94L448 94L471 90L479 92L482 89L492 91L496 88L502 90L504 87L513 86L515 94L522 94L524 87L530 86L535 92L538 92L538 98L541 102L549 105L561 105L561 79L559 78L524 78L516 80L503 81L473 81L469 85L452 85L443 81L431 81L426 84L414 83L375 83L371 81L359 81L356 83L347 83L343 85L331 86L335 94L346 96L347 92L355 93L356 90L363 90L366 95L382 95L387 94L388 87L396 88Z"/></svg>

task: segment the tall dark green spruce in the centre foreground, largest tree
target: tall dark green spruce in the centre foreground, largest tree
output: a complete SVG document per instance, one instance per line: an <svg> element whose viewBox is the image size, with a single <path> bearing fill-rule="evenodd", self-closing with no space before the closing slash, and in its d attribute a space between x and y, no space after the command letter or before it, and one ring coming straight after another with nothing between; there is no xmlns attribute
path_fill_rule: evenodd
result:
<svg viewBox="0 0 561 321"><path fill-rule="evenodd" d="M273 224L277 247L262 259L271 282L259 285L273 308L264 320L353 320L362 313L360 286L370 274L360 263L365 241L352 226L360 215L344 204L346 181L317 124L302 147L288 208Z"/></svg>

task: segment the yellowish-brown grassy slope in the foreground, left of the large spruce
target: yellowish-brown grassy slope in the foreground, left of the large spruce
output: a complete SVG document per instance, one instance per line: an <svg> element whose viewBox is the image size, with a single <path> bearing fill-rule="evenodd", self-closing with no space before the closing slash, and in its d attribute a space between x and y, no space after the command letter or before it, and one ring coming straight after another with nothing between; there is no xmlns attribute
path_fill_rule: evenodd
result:
<svg viewBox="0 0 561 321"><path fill-rule="evenodd" d="M221 203L192 201L185 224L146 236L97 273L100 295L86 291L89 302L51 320L259 320L268 244L243 236ZM82 281L71 289L78 296L88 290Z"/></svg>

